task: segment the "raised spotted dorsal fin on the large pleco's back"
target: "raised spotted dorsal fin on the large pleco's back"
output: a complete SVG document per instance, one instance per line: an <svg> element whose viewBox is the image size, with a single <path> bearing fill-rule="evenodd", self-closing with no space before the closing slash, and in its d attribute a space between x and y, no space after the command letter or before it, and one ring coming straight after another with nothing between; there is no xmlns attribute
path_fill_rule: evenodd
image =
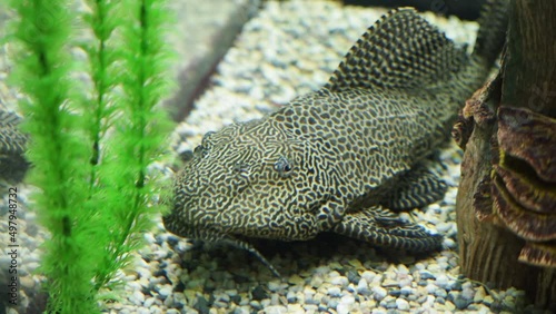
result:
<svg viewBox="0 0 556 314"><path fill-rule="evenodd" d="M414 9L396 9L357 40L325 88L423 88L449 77L465 58Z"/></svg>

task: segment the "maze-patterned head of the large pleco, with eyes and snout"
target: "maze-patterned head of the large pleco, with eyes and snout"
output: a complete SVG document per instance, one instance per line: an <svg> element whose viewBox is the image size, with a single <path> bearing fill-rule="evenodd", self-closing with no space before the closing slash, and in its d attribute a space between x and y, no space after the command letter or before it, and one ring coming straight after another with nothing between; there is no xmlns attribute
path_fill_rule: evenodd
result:
<svg viewBox="0 0 556 314"><path fill-rule="evenodd" d="M306 144L264 121L207 134L175 184L166 228L205 241L312 237Z"/></svg>

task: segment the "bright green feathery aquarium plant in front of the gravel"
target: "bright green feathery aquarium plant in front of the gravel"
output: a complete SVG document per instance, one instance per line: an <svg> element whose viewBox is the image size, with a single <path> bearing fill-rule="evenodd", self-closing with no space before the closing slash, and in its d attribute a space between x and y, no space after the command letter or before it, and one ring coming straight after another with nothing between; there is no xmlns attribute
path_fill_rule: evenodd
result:
<svg viewBox="0 0 556 314"><path fill-rule="evenodd" d="M28 181L41 190L34 207L51 234L40 268L47 311L95 313L162 209L151 202L161 185L147 174L170 127L156 106L169 87L166 1L9 3L18 16L6 39L18 50L10 79L27 96Z"/></svg>

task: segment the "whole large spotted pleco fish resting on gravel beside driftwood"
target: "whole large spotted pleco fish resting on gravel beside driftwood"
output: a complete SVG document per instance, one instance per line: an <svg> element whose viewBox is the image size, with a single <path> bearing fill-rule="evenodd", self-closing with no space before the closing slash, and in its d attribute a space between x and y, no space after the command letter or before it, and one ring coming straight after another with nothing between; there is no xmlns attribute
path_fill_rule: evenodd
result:
<svg viewBox="0 0 556 314"><path fill-rule="evenodd" d="M206 134L177 177L166 228L248 249L275 274L249 238L332 232L395 249L439 249L441 235L396 212L444 196L445 183L424 164L487 78L506 8L486 6L471 56L413 9L389 12L320 90Z"/></svg>

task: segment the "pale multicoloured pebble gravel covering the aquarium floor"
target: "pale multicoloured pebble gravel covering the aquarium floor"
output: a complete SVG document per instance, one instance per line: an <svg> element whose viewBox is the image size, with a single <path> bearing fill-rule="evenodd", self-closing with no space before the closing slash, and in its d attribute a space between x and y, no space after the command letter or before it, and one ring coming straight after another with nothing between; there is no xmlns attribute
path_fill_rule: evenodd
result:
<svg viewBox="0 0 556 314"><path fill-rule="evenodd" d="M322 86L346 51L386 10L340 7L336 2L265 2L228 51L209 88L173 136L177 154L193 149L202 135L225 125L259 118L298 95ZM477 24L426 17L457 42L474 42ZM0 85L0 90L3 88ZM12 95L12 94L10 94ZM3 95L7 96L7 95ZM10 102L4 100L4 102ZM123 294L102 304L105 313L499 313L527 310L524 293L499 291L465 279L458 266L455 199L461 151L451 144L438 153L436 170L450 185L444 200L401 214L445 235L445 249L428 256L378 251L336 235L300 243L256 242L280 271L275 277L247 252L207 245L157 229L120 273ZM166 169L169 165L153 165ZM19 241L22 304L37 303L38 246L47 235L37 227L21 187ZM4 216L2 207L1 215ZM7 222L0 219L0 229ZM1 243L7 243L0 235ZM0 257L0 263L8 258ZM538 311L537 311L538 312ZM8 313L17 313L17 308Z"/></svg>

